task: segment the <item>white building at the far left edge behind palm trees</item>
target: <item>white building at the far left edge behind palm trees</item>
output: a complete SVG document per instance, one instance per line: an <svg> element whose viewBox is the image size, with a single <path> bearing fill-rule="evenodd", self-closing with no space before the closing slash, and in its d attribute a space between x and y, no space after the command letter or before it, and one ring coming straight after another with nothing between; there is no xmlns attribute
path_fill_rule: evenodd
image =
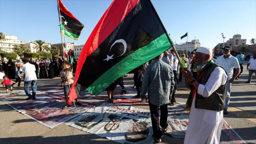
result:
<svg viewBox="0 0 256 144"><path fill-rule="evenodd" d="M18 40L17 36L5 35L5 38L2 41L2 45L0 44L0 48L3 52L13 52L13 48L15 45L20 45L20 40Z"/></svg>

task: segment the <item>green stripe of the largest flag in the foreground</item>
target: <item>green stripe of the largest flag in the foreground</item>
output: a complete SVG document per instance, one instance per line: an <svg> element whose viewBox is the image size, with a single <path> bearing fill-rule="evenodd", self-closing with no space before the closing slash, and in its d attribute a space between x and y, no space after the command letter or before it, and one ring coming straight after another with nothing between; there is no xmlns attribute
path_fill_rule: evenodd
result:
<svg viewBox="0 0 256 144"><path fill-rule="evenodd" d="M155 58L159 54L169 49L171 47L171 43L173 42L171 41L170 43L167 36L169 37L168 34L164 33L145 47L142 47L134 51L130 55L126 56L124 59L122 59L122 61L118 62L108 71L102 74L86 90L89 93L97 96L107 86L109 86L113 82L113 80L118 79L119 77L127 74L131 70L134 70L134 68L146 63L147 61Z"/></svg>

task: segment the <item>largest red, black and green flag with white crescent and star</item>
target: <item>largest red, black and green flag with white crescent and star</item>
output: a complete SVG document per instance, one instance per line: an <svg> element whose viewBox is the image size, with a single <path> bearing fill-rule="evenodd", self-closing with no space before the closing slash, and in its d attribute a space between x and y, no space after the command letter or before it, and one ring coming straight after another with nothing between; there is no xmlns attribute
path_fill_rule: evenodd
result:
<svg viewBox="0 0 256 144"><path fill-rule="evenodd" d="M98 95L172 45L149 0L114 0L83 46L69 102L79 96L80 86Z"/></svg>

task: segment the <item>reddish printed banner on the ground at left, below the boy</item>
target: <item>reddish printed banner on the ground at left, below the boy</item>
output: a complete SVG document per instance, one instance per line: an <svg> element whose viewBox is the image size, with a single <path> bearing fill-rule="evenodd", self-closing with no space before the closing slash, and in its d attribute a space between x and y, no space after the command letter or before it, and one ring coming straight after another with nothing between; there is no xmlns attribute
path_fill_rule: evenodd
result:
<svg viewBox="0 0 256 144"><path fill-rule="evenodd" d="M16 111L45 125L49 128L56 127L91 109L95 104L83 102L81 106L62 109L66 104L64 99L58 98L57 94L47 94L36 97L36 100L22 100L8 104Z"/></svg>

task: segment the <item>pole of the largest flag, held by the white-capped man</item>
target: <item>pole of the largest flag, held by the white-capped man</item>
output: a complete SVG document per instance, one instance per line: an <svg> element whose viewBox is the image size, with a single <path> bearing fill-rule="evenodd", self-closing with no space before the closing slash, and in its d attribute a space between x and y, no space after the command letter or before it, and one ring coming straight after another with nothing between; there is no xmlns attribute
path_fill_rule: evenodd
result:
<svg viewBox="0 0 256 144"><path fill-rule="evenodd" d="M170 37L169 37L169 35L168 35L168 33L167 33L165 27L163 26L163 23L162 23L162 21L161 21L159 15L157 14L156 9L154 8L154 6L153 6L153 4L151 3L151 1L150 1L150 0L148 0L148 1L149 1L150 5L152 6L152 9L154 10L154 13L156 14L157 19L159 20L161 26L163 27L163 30L164 30L164 32L165 32L165 34L166 34L166 37L168 38L169 42L172 44L173 51L174 51L174 53L175 53L176 56L177 56L177 59L178 59L178 61L179 61L179 65L180 65L181 69L182 69L182 70L185 70L184 67L183 67L183 65L182 65L182 63L181 63L181 60L180 60L180 58L179 58L179 55L178 55L178 53L177 53L177 51L176 51L176 49L175 49L175 47L174 47L174 45L173 45L173 42L172 42L172 40L170 39ZM186 80L189 81L188 79L186 79Z"/></svg>

